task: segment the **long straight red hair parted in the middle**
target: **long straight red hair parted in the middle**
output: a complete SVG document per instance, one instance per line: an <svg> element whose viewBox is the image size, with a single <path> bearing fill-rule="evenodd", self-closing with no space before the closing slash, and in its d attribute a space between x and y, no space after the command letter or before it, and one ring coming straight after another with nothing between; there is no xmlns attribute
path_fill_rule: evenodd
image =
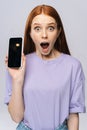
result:
<svg viewBox="0 0 87 130"><path fill-rule="evenodd" d="M61 28L61 33L54 44L54 48L62 53L70 55L70 51L69 51L69 48L67 45L61 18L59 16L58 12L52 6L49 6L49 5L38 5L29 14L27 21L26 21L26 26L25 26L24 49L23 49L24 54L26 55L26 54L35 52L35 50L36 50L35 44L30 36L31 24L32 24L33 18L42 13L53 17L57 22L57 28L58 29Z"/></svg>

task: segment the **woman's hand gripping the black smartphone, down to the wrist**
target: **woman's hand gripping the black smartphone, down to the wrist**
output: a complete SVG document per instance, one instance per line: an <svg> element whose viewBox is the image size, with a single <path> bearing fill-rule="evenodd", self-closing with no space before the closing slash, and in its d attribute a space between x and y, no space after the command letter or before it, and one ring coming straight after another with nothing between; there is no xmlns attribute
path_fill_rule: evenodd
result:
<svg viewBox="0 0 87 130"><path fill-rule="evenodd" d="M5 58L5 64L7 66L7 69L9 71L9 74L12 77L13 81L16 82L23 82L24 81L24 75L25 75L25 67L26 67L26 57L24 54L22 54L22 66L20 68L10 68L8 67L8 57Z"/></svg>

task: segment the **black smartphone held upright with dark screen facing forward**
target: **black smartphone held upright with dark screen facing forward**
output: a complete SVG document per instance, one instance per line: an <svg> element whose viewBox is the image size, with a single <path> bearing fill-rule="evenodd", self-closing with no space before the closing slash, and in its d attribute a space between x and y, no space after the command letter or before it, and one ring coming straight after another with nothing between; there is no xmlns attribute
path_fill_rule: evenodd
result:
<svg viewBox="0 0 87 130"><path fill-rule="evenodd" d="M8 67L21 67L22 37L11 37L8 49Z"/></svg>

